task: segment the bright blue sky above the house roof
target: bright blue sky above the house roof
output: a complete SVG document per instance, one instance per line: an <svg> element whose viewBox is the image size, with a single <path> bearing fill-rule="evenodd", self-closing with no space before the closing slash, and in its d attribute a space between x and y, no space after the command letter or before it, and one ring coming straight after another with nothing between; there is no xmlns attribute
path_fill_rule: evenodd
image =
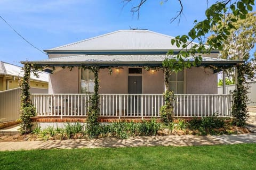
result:
<svg viewBox="0 0 256 170"><path fill-rule="evenodd" d="M124 5L122 0L0 0L0 16L29 43L44 50L130 28L184 35L194 20L205 18L207 8L206 0L182 1L180 22L170 23L179 11L178 1L148 0L137 19L130 11L139 1ZM209 0L208 5L213 2ZM46 58L0 19L0 61L21 65L20 61Z"/></svg>

